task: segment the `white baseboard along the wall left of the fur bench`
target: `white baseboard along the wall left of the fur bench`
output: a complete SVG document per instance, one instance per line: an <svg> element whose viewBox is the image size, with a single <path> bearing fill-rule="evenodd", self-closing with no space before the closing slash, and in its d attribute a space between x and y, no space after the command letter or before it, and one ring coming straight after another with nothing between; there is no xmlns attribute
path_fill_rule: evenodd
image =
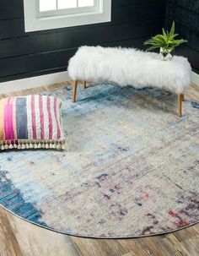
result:
<svg viewBox="0 0 199 256"><path fill-rule="evenodd" d="M45 74L29 79L19 79L0 83L0 94L10 93L18 90L27 90L40 86L62 83L70 80L67 71L55 74Z"/></svg>

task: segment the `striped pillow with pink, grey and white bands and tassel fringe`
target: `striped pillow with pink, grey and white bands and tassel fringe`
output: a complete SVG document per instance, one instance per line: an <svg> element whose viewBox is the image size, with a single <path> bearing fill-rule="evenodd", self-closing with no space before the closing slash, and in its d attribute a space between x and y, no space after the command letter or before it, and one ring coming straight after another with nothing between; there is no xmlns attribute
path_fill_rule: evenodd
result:
<svg viewBox="0 0 199 256"><path fill-rule="evenodd" d="M48 95L0 100L0 150L64 150L61 106Z"/></svg>

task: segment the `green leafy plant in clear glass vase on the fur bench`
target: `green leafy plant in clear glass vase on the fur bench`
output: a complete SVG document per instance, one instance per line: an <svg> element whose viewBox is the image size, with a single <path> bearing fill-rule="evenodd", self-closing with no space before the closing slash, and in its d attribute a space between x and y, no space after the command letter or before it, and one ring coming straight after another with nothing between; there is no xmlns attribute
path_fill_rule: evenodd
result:
<svg viewBox="0 0 199 256"><path fill-rule="evenodd" d="M147 51L159 48L159 57L161 60L169 61L173 58L173 52L175 47L180 46L180 44L187 42L184 39L176 40L175 37L179 34L175 34L175 22L173 21L170 31L165 31L163 29L162 35L155 35L144 42L144 45L151 45Z"/></svg>

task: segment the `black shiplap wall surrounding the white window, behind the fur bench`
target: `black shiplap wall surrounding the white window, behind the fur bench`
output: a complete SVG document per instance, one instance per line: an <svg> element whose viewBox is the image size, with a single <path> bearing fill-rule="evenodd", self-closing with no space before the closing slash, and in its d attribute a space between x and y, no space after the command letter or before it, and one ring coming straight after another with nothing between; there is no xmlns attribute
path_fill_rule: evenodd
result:
<svg viewBox="0 0 199 256"><path fill-rule="evenodd" d="M111 23L25 33L23 0L0 0L0 82L67 70L82 45L142 48L164 14L164 0L112 0Z"/></svg>

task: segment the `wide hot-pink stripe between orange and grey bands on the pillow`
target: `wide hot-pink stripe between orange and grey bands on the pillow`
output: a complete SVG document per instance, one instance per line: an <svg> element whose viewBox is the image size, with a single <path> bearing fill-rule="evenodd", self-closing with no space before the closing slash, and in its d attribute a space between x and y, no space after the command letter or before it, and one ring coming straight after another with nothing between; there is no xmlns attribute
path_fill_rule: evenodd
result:
<svg viewBox="0 0 199 256"><path fill-rule="evenodd" d="M13 133L13 104L10 104L10 97L4 107L4 133L5 139L14 139Z"/></svg>

